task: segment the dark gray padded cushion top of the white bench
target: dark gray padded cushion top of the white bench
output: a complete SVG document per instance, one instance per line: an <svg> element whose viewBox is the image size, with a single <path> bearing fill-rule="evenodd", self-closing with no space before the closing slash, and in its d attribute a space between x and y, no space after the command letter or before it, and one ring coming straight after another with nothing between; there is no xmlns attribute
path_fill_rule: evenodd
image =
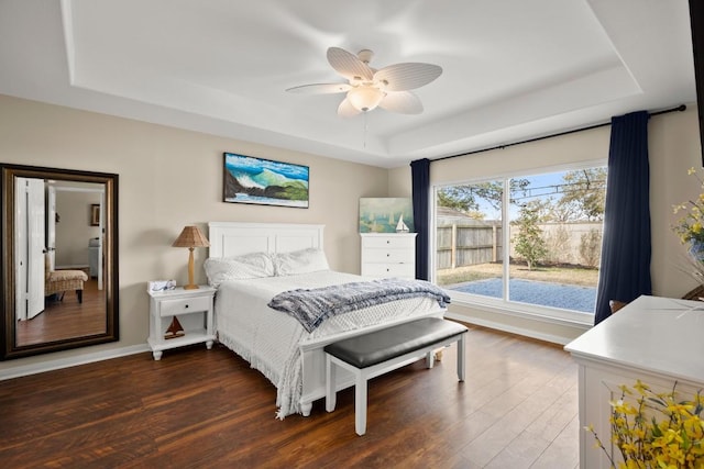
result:
<svg viewBox="0 0 704 469"><path fill-rule="evenodd" d="M426 317L336 342L324 351L356 368L366 368L466 331L462 324Z"/></svg>

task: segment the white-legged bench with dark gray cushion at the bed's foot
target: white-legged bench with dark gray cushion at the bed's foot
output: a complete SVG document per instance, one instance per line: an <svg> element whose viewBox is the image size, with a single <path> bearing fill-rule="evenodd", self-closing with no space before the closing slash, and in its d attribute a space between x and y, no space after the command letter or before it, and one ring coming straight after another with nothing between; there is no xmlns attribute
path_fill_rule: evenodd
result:
<svg viewBox="0 0 704 469"><path fill-rule="evenodd" d="M324 347L326 351L326 410L334 411L336 368L342 367L354 375L354 429L366 433L367 381L393 371L426 356L432 368L435 350L458 343L458 378L464 381L464 335L462 324L438 317L427 317L398 324L369 334L345 338Z"/></svg>

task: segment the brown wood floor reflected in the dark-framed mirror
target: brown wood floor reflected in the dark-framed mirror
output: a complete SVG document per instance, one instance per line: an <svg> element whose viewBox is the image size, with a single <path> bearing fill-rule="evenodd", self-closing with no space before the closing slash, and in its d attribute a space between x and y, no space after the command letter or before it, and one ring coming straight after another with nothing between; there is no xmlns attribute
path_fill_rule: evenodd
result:
<svg viewBox="0 0 704 469"><path fill-rule="evenodd" d="M76 291L47 298L44 311L29 321L16 324L16 345L43 344L66 338L106 333L106 294L98 290L98 280L84 283L84 300L78 302Z"/></svg>

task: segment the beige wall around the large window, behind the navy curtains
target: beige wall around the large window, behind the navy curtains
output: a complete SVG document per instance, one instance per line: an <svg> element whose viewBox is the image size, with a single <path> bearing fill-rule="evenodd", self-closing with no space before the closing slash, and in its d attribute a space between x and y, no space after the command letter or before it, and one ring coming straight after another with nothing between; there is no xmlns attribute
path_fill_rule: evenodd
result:
<svg viewBox="0 0 704 469"><path fill-rule="evenodd" d="M574 165L608 157L610 127L600 127L504 149L479 153L430 165L431 185L461 182L473 178L510 176L554 165ZM651 273L653 294L679 298L696 281L688 270L686 249L670 226L675 221L672 205L697 197L701 188L688 176L690 167L702 167L695 104L685 112L657 115L648 123L650 158L650 211L652 226ZM410 196L410 169L389 171L389 194ZM539 338L564 342L584 327L531 321L510 312L496 314L463 304L450 306L451 316L492 325Z"/></svg>

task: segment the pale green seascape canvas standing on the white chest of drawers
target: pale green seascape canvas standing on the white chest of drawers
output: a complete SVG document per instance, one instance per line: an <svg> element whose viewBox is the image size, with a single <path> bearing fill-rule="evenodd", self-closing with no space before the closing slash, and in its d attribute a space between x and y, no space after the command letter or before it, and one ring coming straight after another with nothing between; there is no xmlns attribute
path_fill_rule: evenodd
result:
<svg viewBox="0 0 704 469"><path fill-rule="evenodd" d="M360 233L408 232L414 232L414 208L410 199L360 199Z"/></svg>

